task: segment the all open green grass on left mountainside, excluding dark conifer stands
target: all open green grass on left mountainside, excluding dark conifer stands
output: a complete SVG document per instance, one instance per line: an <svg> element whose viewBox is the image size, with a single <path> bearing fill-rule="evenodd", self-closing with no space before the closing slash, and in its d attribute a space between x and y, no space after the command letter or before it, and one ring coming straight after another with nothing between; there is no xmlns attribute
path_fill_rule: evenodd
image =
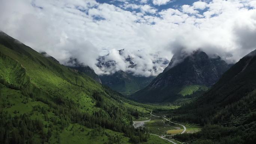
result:
<svg viewBox="0 0 256 144"><path fill-rule="evenodd" d="M141 105L123 98L121 101L116 100L106 93L104 87L85 74L79 74L60 65L3 33L0 34L0 67L0 110L7 111L12 117L27 114L30 119L42 120L45 133L51 126L54 131L49 143L103 144L116 136L120 136L124 143L129 143L129 138L124 137L122 133L106 129L104 132L101 130L99 135L90 135L88 132L93 129L73 122L69 122L67 127L60 130L61 125L52 122L52 119L57 122L63 119L57 116L52 108L52 104L62 102L57 101L59 97L73 101L77 110L91 114L103 111L95 106L95 99L91 96L95 90L102 92L106 103L134 108L141 113L149 113L148 108L153 108L150 105ZM35 101L35 97L44 101ZM46 109L46 112L42 113L41 109ZM107 112L105 115L106 119L110 119L111 116ZM123 117L123 122L129 124L127 115ZM42 143L43 139L45 138L34 134L35 143ZM151 143L151 140L155 139L150 136L148 142Z"/></svg>

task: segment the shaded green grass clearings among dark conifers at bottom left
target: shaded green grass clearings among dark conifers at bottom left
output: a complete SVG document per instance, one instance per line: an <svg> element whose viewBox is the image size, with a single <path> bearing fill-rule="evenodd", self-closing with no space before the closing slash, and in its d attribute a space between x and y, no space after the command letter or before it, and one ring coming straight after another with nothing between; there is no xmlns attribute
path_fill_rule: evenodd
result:
<svg viewBox="0 0 256 144"><path fill-rule="evenodd" d="M40 101L33 101L33 99L27 98L27 96L22 95L21 91L9 89L1 85L0 99L1 99L0 105L6 105L5 108L2 108L1 110L8 111L12 116L30 114L31 119L41 119L43 120L44 125L53 124L45 120L45 114L42 114L39 111L33 111L33 107L35 106L49 108L49 105ZM47 115L48 117L56 117L52 112L49 112ZM47 132L48 128L44 128L44 131ZM129 138L124 137L124 134L122 133L114 132L106 129L105 133L107 135L103 133L95 137L92 137L91 135L88 135L88 132L91 132L91 131L92 129L89 129L85 126L79 125L77 123L70 123L70 125L60 133L60 143L61 144L70 144L70 143L103 144L104 142L107 142L109 139L107 135L110 135L110 136L120 135L122 137L123 143L129 144L128 142ZM38 141L40 142L42 140L38 140ZM57 141L58 141L57 138L52 137L49 143L58 143Z"/></svg>

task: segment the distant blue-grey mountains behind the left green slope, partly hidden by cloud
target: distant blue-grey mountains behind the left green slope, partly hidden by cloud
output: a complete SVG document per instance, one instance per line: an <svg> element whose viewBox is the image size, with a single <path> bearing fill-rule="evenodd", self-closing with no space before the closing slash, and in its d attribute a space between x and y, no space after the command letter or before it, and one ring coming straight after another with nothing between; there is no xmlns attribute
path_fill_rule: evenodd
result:
<svg viewBox="0 0 256 144"><path fill-rule="evenodd" d="M122 55L123 50L124 49L119 50L120 55ZM54 60L55 62L60 63L57 59L48 55L48 53L46 52L41 52L41 54ZM125 60L130 64L129 67L134 68L136 67L136 63L132 61L132 59L133 58L131 56L125 58ZM92 79L96 80L97 82L109 86L113 90L118 91L124 95L130 95L142 88L145 88L155 78L155 76L134 76L134 74L130 71L125 72L121 70L113 74L103 74L98 76L92 68L79 62L76 58L70 58L66 65L67 67L75 70L76 72L84 73L87 76L90 76ZM106 61L105 56L100 56L98 58L97 66L99 68L109 68L115 65L115 61Z"/></svg>

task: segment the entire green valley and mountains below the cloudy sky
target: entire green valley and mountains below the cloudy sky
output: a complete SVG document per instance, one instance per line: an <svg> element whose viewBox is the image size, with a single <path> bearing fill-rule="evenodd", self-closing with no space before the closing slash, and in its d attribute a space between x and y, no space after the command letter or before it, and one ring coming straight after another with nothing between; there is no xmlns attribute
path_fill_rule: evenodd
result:
<svg viewBox="0 0 256 144"><path fill-rule="evenodd" d="M176 56L152 82L130 75L134 87L114 91L111 76L0 32L0 143L254 144L256 50L234 65L196 50L173 66Z"/></svg>

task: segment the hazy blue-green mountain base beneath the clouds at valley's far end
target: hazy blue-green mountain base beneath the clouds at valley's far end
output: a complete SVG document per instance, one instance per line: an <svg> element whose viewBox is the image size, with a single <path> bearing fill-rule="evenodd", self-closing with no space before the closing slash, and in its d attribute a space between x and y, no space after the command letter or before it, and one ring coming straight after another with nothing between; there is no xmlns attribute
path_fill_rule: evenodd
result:
<svg viewBox="0 0 256 144"><path fill-rule="evenodd" d="M100 79L104 85L120 92L130 95L135 91L145 88L155 77L134 76L131 73L118 71L111 75L101 75Z"/></svg>

